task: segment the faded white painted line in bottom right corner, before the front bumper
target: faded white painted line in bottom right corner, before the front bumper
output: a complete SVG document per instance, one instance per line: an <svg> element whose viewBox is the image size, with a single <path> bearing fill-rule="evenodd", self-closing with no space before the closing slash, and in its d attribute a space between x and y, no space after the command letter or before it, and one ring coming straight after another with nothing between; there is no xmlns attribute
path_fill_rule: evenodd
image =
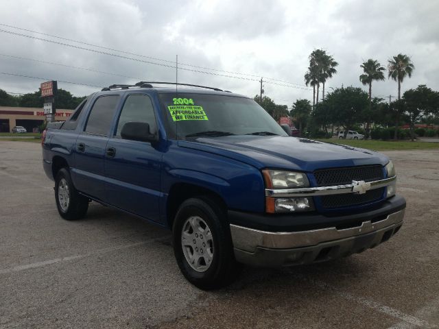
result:
<svg viewBox="0 0 439 329"><path fill-rule="evenodd" d="M346 300L351 300L353 302L366 306L367 308L376 310L379 313L383 313L390 317L399 319L402 321L401 322L402 324L406 324L409 326L407 328L439 328L439 326L436 324L429 324L429 322L423 319L419 319L418 317L414 317L413 315L405 314L400 310L396 310L396 308L379 304L378 302L368 300L367 298L361 296L352 295L351 293L348 293L346 291L341 291L339 288L333 287L330 284L327 284L326 282L309 279L306 278L305 276L301 276L301 279L311 282L312 284L315 284L317 287L321 289L324 289L326 291L331 291L331 293L334 293L335 295L339 295L340 297L343 297ZM394 329L396 328L399 327L395 327ZM401 327L401 328L405 328L405 327Z"/></svg>

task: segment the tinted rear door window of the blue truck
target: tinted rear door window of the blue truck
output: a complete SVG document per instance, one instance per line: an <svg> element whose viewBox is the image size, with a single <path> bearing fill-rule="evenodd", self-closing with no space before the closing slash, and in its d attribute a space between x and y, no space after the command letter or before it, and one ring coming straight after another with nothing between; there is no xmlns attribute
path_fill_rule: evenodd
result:
<svg viewBox="0 0 439 329"><path fill-rule="evenodd" d="M99 97L93 104L85 127L85 132L107 136L112 118L119 101L119 96L109 95Z"/></svg>

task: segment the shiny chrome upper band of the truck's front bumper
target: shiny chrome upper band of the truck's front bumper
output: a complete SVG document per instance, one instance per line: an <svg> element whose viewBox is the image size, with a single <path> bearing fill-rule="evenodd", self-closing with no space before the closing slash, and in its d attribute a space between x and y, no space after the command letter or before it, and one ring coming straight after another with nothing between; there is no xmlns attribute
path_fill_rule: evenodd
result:
<svg viewBox="0 0 439 329"><path fill-rule="evenodd" d="M376 221L375 223L364 221L361 223L361 226L343 230L337 230L337 228L332 227L300 232L265 232L230 224L230 233L232 234L233 247L246 252L255 252L257 247L291 249L318 245L319 243L375 232L382 228L401 223L404 218L404 213L405 209L399 210L388 215L388 217L381 221Z"/></svg>

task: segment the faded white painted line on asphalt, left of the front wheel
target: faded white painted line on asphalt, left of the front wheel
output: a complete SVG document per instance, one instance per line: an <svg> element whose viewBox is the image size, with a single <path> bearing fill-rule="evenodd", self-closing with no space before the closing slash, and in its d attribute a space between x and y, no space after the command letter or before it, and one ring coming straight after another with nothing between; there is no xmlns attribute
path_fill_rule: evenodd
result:
<svg viewBox="0 0 439 329"><path fill-rule="evenodd" d="M30 264L25 264L25 265L9 267L7 269L0 269L0 274L10 274L10 273L14 273L14 272L24 271L26 269L36 269L38 267L45 267L47 265L52 265L52 264L56 264L56 263L68 262L70 260L76 260L76 259L82 259L82 258L86 258L86 257L90 257L90 256L107 254L108 252L114 252L114 251L121 250L121 249L138 247L139 245L145 245L147 243L159 242L159 241L163 241L165 239L168 239L168 236L161 236L160 238L150 239L147 241L142 241L142 242L137 242L137 243L130 243L127 245L118 245L116 247L97 249L94 252L89 252L87 254L72 255L72 256L66 256L66 257L62 257L62 258L43 260L41 262L36 262L36 263L30 263Z"/></svg>

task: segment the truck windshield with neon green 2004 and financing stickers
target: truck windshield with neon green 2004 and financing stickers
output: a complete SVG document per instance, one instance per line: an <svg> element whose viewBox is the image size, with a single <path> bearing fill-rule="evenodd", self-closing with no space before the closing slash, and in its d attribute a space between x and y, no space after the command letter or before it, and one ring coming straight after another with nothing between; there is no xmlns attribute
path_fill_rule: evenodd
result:
<svg viewBox="0 0 439 329"><path fill-rule="evenodd" d="M197 93L160 94L172 138L229 135L287 136L252 99Z"/></svg>

